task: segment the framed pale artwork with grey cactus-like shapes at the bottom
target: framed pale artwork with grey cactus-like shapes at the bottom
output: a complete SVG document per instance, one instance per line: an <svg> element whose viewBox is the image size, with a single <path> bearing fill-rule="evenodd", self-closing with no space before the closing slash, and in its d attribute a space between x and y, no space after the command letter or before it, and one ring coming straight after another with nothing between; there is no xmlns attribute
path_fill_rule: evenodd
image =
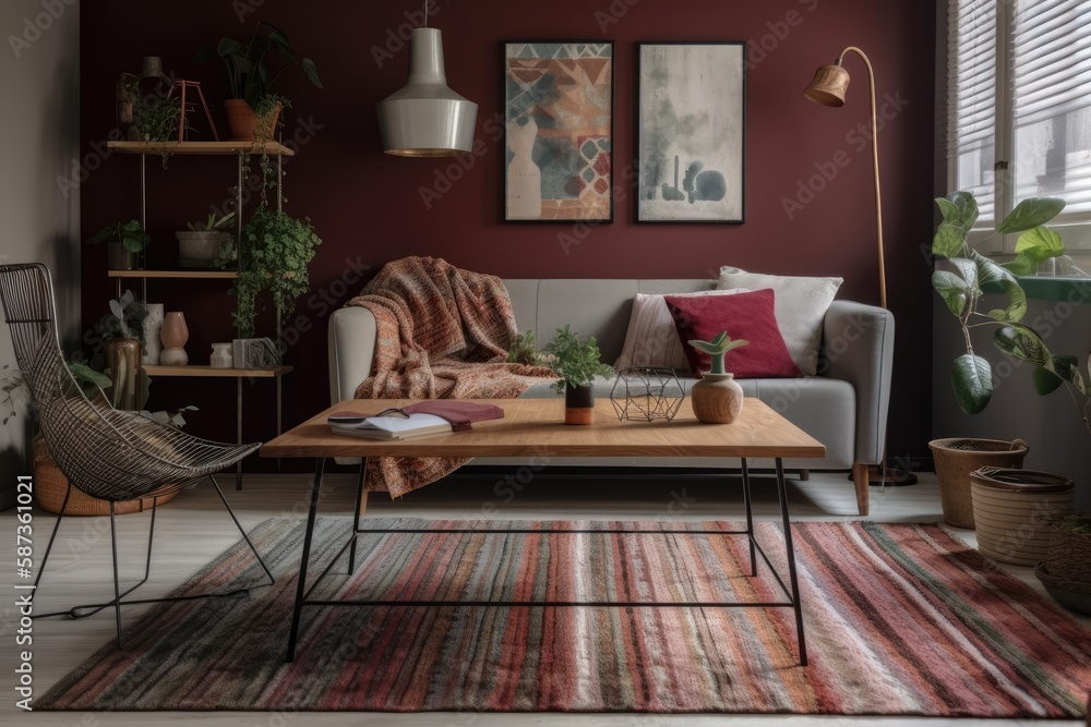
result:
<svg viewBox="0 0 1091 727"><path fill-rule="evenodd" d="M743 43L637 44L637 222L742 222Z"/></svg>

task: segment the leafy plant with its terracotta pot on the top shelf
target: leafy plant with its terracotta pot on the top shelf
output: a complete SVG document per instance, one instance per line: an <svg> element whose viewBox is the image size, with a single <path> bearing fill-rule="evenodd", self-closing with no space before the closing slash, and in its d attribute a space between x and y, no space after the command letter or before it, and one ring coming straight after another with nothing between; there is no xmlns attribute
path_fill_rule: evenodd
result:
<svg viewBox="0 0 1091 727"><path fill-rule="evenodd" d="M268 31L263 33L262 26ZM275 51L281 62L275 72L266 60L269 51ZM224 109L235 138L264 141L273 137L277 116L287 106L287 99L273 93L273 86L291 65L298 63L308 80L322 88L314 61L300 58L284 31L265 22L257 23L245 43L220 38L216 54L227 65L231 98L224 101Z"/></svg>

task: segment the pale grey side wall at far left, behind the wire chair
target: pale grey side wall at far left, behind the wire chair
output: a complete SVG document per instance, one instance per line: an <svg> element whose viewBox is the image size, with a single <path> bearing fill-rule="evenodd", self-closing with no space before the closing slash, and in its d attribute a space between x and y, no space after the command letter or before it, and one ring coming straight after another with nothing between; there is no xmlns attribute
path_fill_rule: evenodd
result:
<svg viewBox="0 0 1091 727"><path fill-rule="evenodd" d="M40 262L53 275L62 339L80 325L80 192L72 174L80 152L80 3L4 0L0 4L0 263ZM14 367L7 326L0 365ZM15 477L31 473L26 420L0 426L0 509L14 501Z"/></svg>

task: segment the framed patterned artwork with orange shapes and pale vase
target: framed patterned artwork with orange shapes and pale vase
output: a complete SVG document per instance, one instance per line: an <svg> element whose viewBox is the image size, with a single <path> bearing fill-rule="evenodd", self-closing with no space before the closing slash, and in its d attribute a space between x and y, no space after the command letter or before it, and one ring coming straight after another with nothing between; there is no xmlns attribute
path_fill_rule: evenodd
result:
<svg viewBox="0 0 1091 727"><path fill-rule="evenodd" d="M504 219L613 221L613 43L506 43L504 74Z"/></svg>

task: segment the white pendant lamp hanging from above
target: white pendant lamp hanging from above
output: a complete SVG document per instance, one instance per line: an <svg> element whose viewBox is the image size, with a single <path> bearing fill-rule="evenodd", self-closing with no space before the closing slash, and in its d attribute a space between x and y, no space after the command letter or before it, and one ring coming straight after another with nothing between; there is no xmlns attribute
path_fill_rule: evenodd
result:
<svg viewBox="0 0 1091 727"><path fill-rule="evenodd" d="M409 83L376 105L383 150L398 157L456 157L473 146L477 104L447 87L443 38L428 26L409 39Z"/></svg>

